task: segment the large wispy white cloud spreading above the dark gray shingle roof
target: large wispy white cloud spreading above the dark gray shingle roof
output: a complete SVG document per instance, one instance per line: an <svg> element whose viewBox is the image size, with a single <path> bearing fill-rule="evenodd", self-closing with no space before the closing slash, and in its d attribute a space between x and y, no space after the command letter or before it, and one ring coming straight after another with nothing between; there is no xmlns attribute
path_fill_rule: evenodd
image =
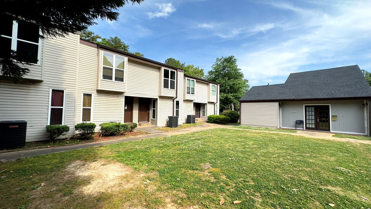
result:
<svg viewBox="0 0 371 209"><path fill-rule="evenodd" d="M332 4L329 13L303 9L288 3L271 5L295 12L298 18L290 20L288 25L301 27L286 31L287 38L274 42L264 40L248 53L237 56L240 67L252 84L286 77L289 73L302 71L308 65L326 66L334 62L351 65L357 64L353 62L355 57L369 56L357 52L370 44L371 22L367 20L371 19L371 2ZM280 79L276 81L282 82Z"/></svg>

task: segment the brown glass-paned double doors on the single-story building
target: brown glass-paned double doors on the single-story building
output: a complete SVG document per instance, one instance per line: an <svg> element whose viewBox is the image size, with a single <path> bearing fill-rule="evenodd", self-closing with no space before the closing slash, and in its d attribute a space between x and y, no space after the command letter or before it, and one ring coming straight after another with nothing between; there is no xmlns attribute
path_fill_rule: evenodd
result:
<svg viewBox="0 0 371 209"><path fill-rule="evenodd" d="M330 131L330 107L328 105L305 106L305 129Z"/></svg>

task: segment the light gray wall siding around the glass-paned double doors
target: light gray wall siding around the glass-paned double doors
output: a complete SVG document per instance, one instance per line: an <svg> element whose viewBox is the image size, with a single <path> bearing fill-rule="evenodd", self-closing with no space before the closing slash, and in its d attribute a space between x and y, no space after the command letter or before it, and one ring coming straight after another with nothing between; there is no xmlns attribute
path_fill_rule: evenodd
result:
<svg viewBox="0 0 371 209"><path fill-rule="evenodd" d="M295 128L295 120L304 120L304 105L329 104L331 115L338 116L337 120L330 120L332 132L367 134L367 114L363 103L364 100L282 102L282 128Z"/></svg>

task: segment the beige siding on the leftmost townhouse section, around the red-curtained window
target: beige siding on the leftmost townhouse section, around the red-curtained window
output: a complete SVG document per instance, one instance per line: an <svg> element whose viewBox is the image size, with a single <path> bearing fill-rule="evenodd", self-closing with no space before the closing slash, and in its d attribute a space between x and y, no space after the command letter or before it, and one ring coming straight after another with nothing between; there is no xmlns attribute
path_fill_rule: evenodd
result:
<svg viewBox="0 0 371 209"><path fill-rule="evenodd" d="M79 35L48 38L43 41L42 82L0 80L0 120L27 120L27 141L46 140L50 88L66 90L65 125L74 134L75 89ZM34 66L35 67L35 66ZM35 70L35 68L30 70ZM40 68L36 69L40 70ZM39 76L39 72L30 72Z"/></svg>

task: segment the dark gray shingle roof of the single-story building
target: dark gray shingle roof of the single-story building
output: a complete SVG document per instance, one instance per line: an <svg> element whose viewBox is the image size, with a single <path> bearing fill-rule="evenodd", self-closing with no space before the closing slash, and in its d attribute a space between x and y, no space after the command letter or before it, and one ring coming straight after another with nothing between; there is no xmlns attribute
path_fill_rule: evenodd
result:
<svg viewBox="0 0 371 209"><path fill-rule="evenodd" d="M291 73L284 84L252 87L240 101L352 97L371 99L371 88L358 65Z"/></svg>

